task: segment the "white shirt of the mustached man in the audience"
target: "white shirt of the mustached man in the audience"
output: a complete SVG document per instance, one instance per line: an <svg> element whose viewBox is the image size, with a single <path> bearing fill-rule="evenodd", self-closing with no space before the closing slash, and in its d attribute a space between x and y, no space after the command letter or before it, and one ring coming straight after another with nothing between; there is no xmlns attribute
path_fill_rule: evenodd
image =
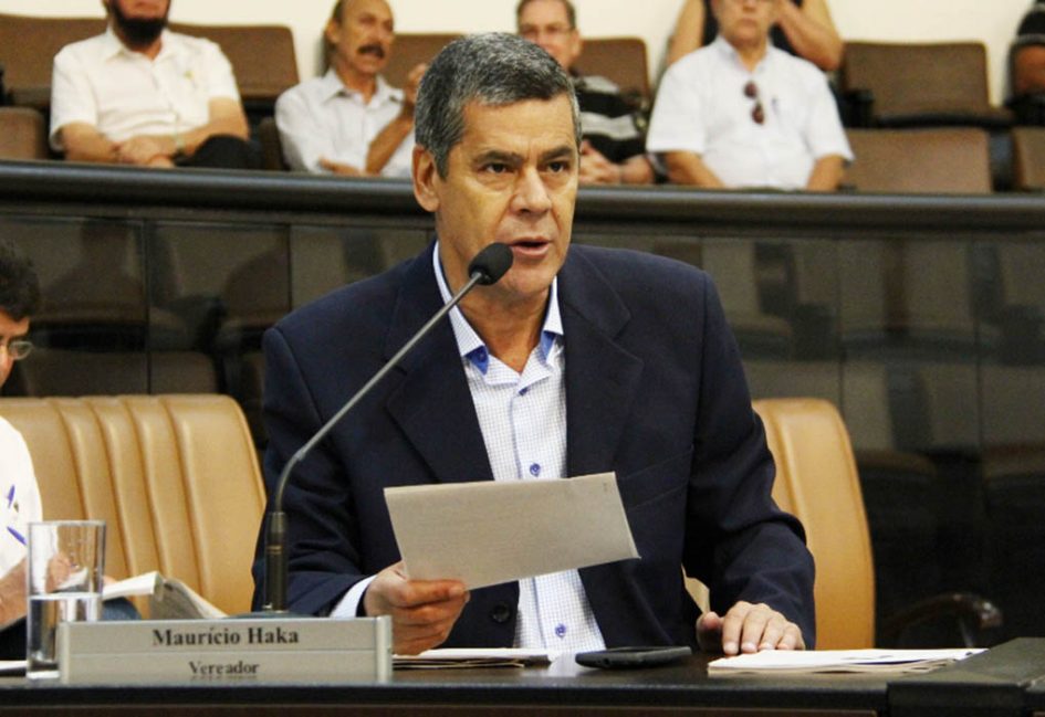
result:
<svg viewBox="0 0 1045 717"><path fill-rule="evenodd" d="M326 172L320 159L366 166L370 143L399 114L403 91L377 78L370 102L345 87L333 70L322 77L306 80L291 87L275 103L275 124L280 128L283 157L291 169ZM382 169L383 177L409 177L414 154L414 133L399 143Z"/></svg>

